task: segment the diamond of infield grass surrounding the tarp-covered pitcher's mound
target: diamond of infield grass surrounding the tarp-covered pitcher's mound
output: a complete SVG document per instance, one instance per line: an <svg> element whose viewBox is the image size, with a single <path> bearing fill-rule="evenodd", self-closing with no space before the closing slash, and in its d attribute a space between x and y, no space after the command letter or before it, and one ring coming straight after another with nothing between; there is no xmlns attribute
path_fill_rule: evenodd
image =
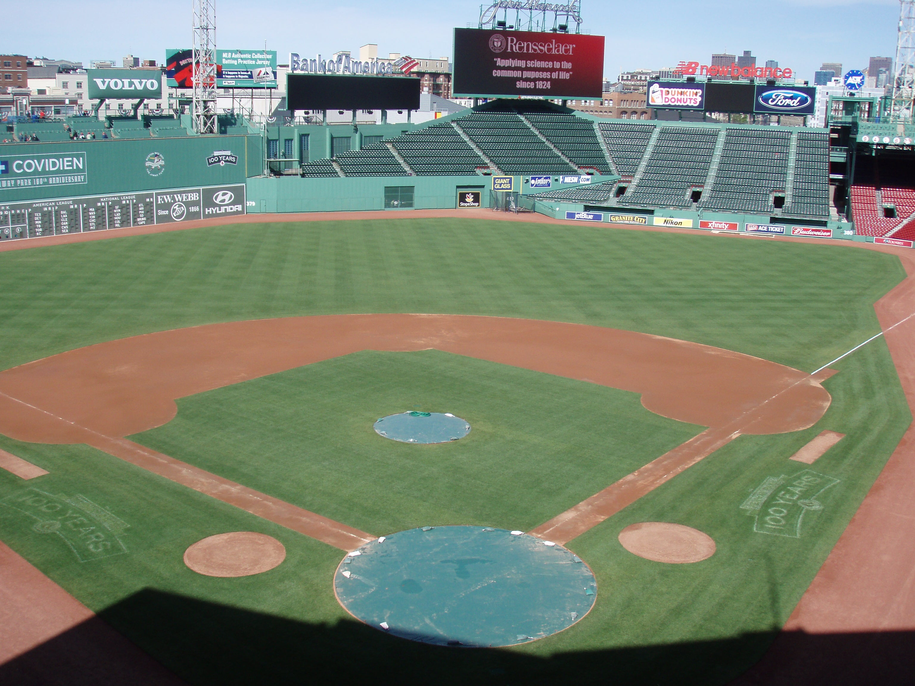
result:
<svg viewBox="0 0 915 686"><path fill-rule="evenodd" d="M405 445L376 419L455 413L470 434ZM639 395L437 350L364 351L178 401L136 442L376 535L479 524L526 531L702 427Z"/></svg>

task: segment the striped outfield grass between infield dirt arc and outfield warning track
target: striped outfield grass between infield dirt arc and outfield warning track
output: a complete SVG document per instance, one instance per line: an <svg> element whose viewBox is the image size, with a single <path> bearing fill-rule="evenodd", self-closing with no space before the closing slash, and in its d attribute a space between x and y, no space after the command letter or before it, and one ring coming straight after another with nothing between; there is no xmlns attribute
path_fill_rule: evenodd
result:
<svg viewBox="0 0 915 686"><path fill-rule="evenodd" d="M618 327L815 369L904 273L841 245L479 220L253 224L0 254L0 366L203 323L432 312Z"/></svg>

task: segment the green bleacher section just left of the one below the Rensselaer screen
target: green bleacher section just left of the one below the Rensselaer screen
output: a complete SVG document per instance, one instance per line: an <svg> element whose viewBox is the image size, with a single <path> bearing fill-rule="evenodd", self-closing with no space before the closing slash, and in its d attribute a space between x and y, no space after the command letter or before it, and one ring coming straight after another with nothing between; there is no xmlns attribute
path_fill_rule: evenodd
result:
<svg viewBox="0 0 915 686"><path fill-rule="evenodd" d="M390 141L420 177L473 176L486 162L450 123L437 123Z"/></svg>

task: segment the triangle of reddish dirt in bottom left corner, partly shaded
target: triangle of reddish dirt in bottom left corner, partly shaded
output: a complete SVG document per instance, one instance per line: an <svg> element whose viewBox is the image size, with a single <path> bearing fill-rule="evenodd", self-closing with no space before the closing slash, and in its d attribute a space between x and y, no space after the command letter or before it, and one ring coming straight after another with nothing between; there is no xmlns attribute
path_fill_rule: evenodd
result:
<svg viewBox="0 0 915 686"><path fill-rule="evenodd" d="M127 682L184 683L0 542L0 683Z"/></svg>

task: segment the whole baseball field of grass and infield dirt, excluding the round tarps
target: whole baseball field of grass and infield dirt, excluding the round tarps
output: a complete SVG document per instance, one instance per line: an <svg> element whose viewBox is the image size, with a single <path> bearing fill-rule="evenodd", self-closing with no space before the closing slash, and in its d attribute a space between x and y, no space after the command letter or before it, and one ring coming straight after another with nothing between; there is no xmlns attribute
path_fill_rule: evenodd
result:
<svg viewBox="0 0 915 686"><path fill-rule="evenodd" d="M0 450L46 472L0 469L0 541L155 659L150 683L737 679L910 426L885 338L833 361L880 333L899 257L482 217L0 252ZM407 445L372 428L409 412L471 429ZM646 522L714 545L631 552ZM341 606L347 552L454 525L565 546L593 607L455 648ZM188 548L233 531L285 557L193 571ZM19 637L0 681L66 653L81 682L79 631ZM20 633L6 616L0 635Z"/></svg>

